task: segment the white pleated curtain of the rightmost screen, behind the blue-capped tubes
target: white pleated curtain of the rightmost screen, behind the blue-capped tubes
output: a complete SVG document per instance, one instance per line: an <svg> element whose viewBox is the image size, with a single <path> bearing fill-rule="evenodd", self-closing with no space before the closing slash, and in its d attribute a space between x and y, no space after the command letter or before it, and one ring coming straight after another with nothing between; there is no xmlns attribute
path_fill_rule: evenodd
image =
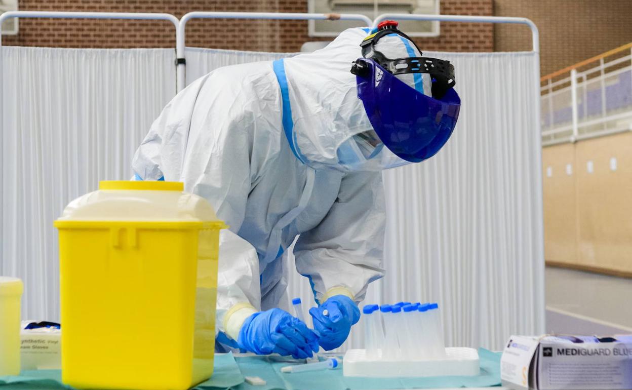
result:
<svg viewBox="0 0 632 390"><path fill-rule="evenodd" d="M386 276L365 303L439 302L448 345L502 350L544 332L537 57L424 54L454 64L461 116L435 157L384 172ZM291 298L314 305L288 267ZM361 320L342 349L362 338Z"/></svg>

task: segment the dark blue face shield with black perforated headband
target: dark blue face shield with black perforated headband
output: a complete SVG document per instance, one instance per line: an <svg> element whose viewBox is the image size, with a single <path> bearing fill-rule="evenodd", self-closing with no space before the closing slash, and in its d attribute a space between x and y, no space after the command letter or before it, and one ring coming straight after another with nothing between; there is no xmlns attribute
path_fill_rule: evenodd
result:
<svg viewBox="0 0 632 390"><path fill-rule="evenodd" d="M353 137L358 159L381 156L377 160L384 168L420 162L436 154L451 136L461 106L453 90L454 68L448 61L424 57L390 59L375 49L377 40L385 35L398 34L408 39L396 25L392 21L380 23L381 29L360 45L364 58L357 59L351 68L356 75L358 98L373 128ZM397 77L422 73L432 78L432 97Z"/></svg>

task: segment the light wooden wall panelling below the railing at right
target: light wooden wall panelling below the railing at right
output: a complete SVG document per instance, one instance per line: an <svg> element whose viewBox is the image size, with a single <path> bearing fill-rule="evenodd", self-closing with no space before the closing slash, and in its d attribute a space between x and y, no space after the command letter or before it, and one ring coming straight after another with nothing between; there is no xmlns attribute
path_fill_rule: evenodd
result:
<svg viewBox="0 0 632 390"><path fill-rule="evenodd" d="M542 165L547 262L632 275L632 133L545 147Z"/></svg>

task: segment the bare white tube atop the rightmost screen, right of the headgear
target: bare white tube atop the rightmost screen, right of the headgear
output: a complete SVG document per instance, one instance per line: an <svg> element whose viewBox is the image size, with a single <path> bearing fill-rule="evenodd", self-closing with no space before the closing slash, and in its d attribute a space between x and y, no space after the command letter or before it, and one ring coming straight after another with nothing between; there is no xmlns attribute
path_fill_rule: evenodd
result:
<svg viewBox="0 0 632 390"><path fill-rule="evenodd" d="M511 16L473 16L473 15L423 15L416 13L385 13L377 16L373 27L377 27L384 20L427 20L427 21L459 21L465 23L509 23L527 25L531 28L532 51L540 52L540 33L533 21L527 18L513 18ZM539 77L538 77L539 80Z"/></svg>

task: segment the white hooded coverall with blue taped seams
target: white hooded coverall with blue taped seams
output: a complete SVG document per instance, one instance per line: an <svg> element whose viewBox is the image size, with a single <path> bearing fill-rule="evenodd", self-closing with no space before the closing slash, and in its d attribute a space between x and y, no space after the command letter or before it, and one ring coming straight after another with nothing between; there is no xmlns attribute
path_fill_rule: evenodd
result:
<svg viewBox="0 0 632 390"><path fill-rule="evenodd" d="M286 304L282 254L298 235L296 269L317 302L338 294L359 302L384 275L381 173L337 158L351 135L372 129L349 71L367 32L345 30L283 63L210 72L167 104L136 152L137 178L183 181L230 226L220 235L216 321L228 338L246 317ZM377 48L389 58L420 56L398 35ZM423 76L401 79L430 91Z"/></svg>

